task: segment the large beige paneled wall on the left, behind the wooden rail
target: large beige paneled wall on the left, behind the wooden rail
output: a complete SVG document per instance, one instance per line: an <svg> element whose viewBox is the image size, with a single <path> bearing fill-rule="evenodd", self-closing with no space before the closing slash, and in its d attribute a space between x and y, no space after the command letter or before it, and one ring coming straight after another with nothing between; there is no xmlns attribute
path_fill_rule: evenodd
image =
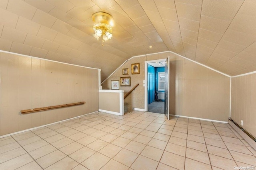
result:
<svg viewBox="0 0 256 170"><path fill-rule="evenodd" d="M0 53L0 135L98 111L98 70ZM21 115L20 110L84 105Z"/></svg>

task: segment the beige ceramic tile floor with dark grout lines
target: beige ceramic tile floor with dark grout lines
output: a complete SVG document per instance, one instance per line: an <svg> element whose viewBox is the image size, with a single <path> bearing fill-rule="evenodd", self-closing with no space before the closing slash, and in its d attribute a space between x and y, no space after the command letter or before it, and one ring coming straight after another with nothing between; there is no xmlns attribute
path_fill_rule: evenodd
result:
<svg viewBox="0 0 256 170"><path fill-rule="evenodd" d="M93 113L0 139L1 170L233 170L256 151L228 124Z"/></svg>

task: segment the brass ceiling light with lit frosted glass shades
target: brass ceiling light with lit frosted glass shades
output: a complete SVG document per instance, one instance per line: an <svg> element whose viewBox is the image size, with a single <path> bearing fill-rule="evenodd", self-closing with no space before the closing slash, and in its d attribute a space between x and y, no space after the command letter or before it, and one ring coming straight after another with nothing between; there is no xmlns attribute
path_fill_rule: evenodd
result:
<svg viewBox="0 0 256 170"><path fill-rule="evenodd" d="M96 12L92 14L92 21L94 21L93 29L94 29L94 37L99 40L102 37L102 41L106 42L110 40L113 35L113 17L106 12Z"/></svg>

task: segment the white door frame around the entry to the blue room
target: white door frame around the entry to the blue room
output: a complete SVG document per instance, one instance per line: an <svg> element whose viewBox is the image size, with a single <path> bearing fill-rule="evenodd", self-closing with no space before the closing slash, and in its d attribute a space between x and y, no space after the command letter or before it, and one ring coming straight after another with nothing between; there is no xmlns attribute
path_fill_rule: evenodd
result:
<svg viewBox="0 0 256 170"><path fill-rule="evenodd" d="M166 60L168 61L168 58L145 61L145 79L143 80L143 86L144 86L144 90L145 90L145 95L144 95L144 110L145 111L148 111L148 63L156 63L156 62L163 62L163 61L165 62ZM168 79L170 80L169 76L168 76ZM170 91L170 86L168 86L168 91ZM169 95L168 95L168 97L169 97ZM170 103L170 101L168 100L168 106L169 106L169 103Z"/></svg>

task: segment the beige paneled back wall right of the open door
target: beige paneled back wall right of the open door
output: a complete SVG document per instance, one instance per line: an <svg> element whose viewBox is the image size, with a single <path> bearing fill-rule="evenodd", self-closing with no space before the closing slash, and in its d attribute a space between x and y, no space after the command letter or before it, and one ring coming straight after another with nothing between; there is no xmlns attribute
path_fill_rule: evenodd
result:
<svg viewBox="0 0 256 170"><path fill-rule="evenodd" d="M175 74L176 102L175 109L171 105L170 114L228 121L229 77L179 56Z"/></svg>

